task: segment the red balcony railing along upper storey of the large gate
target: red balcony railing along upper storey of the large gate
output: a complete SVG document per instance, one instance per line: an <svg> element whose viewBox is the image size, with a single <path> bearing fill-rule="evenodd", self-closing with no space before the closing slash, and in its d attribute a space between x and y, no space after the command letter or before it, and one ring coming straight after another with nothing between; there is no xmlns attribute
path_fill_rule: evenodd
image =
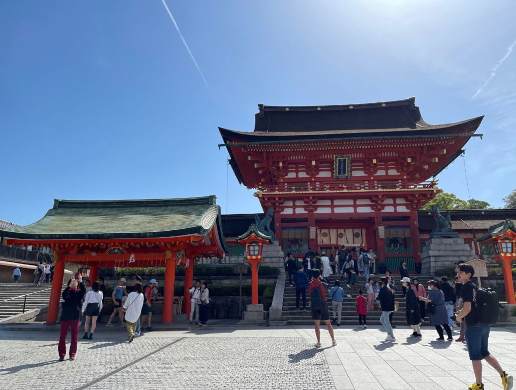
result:
<svg viewBox="0 0 516 390"><path fill-rule="evenodd" d="M399 182L345 182L345 183L282 183L278 186L262 186L255 196L277 193L313 193L313 192L379 192L379 191L439 191L437 181L423 182L419 184L407 184Z"/></svg>

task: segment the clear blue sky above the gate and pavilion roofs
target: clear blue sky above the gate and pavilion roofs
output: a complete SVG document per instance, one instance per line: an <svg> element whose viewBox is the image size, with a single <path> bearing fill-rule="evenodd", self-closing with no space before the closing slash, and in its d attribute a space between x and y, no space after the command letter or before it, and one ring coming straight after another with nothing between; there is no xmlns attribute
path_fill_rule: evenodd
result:
<svg viewBox="0 0 516 390"><path fill-rule="evenodd" d="M515 2L167 4L207 85L160 0L0 2L0 219L213 193L222 213L259 212L217 148L217 126L251 131L257 103L416 96L429 123L486 115L471 197L502 206L516 187ZM469 198L462 158L438 178Z"/></svg>

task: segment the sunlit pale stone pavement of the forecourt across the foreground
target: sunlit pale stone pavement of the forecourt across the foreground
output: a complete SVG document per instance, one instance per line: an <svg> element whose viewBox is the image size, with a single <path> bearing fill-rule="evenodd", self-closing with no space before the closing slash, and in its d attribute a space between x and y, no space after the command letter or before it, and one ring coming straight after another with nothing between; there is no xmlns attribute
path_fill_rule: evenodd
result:
<svg viewBox="0 0 516 390"><path fill-rule="evenodd" d="M57 360L56 332L0 328L0 389L374 389L463 390L474 381L464 345L423 339L395 329L385 343L379 329L336 328L331 347L321 329L315 349L311 327L207 327L151 332L127 344L122 333L100 329L79 339L75 361ZM82 334L80 334L82 336ZM516 373L516 333L494 328L490 351ZM500 389L485 366L486 390Z"/></svg>

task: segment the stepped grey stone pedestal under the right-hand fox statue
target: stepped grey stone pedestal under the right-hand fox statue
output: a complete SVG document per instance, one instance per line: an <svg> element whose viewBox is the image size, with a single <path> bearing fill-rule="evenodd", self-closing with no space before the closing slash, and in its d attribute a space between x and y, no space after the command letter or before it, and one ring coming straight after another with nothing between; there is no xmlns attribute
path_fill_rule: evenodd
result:
<svg viewBox="0 0 516 390"><path fill-rule="evenodd" d="M421 252L421 274L433 276L439 268L454 267L454 263L474 257L475 252L463 238L430 238Z"/></svg>

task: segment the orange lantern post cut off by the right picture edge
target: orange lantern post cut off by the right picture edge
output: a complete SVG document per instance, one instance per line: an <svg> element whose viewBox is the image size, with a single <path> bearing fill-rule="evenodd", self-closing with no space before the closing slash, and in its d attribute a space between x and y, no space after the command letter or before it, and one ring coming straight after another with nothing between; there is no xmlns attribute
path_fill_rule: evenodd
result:
<svg viewBox="0 0 516 390"><path fill-rule="evenodd" d="M488 233L477 239L479 242L489 243L494 250L493 260L502 265L504 275L505 294L507 303L516 304L514 297L514 283L512 281L512 262L516 259L516 227L514 222L506 219L489 228Z"/></svg>

